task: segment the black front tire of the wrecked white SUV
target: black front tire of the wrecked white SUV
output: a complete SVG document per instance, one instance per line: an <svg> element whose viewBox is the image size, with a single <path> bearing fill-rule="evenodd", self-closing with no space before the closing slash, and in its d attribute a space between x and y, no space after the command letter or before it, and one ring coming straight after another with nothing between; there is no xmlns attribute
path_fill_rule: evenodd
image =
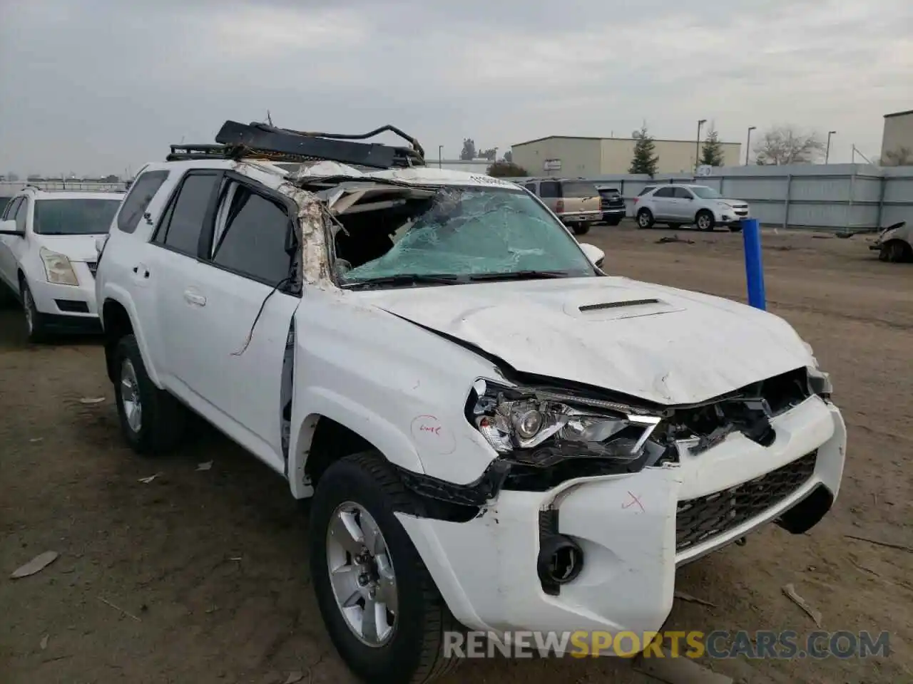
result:
<svg viewBox="0 0 913 684"><path fill-rule="evenodd" d="M343 616L340 603L345 599L337 600L328 563L331 558L334 565L358 567L354 565L352 551L356 548L363 551L365 547L352 536L344 536L347 534L345 527L336 528L342 531L341 535L331 538L330 534L331 523L340 520L339 512L352 510L357 512L357 517L349 513L349 520L357 521L355 529L362 530L362 540L363 529L373 528L380 532L375 538L380 540L385 553L378 553L375 558L381 560L369 564L377 570L373 576L394 577L393 631L383 638L378 634L373 646L362 641L362 637L356 635L356 627L350 627L349 619ZM310 506L310 573L320 615L333 645L349 668L361 679L378 684L427 682L445 674L459 662L457 658L445 658L444 637L446 631L462 627L450 614L409 535L394 516L394 511L410 510L413 510L411 495L393 467L376 451L365 451L332 463L321 476ZM335 543L341 538L347 544L354 544L349 552L342 550L342 544ZM391 568L389 575L379 569L384 566ZM358 606L363 611L368 600L364 596L364 592L369 591L367 587L352 585L340 591L349 595L348 607ZM383 583L378 582L376 592L383 591ZM390 627L390 619L390 612L386 612L383 628ZM376 622L374 625L375 634L382 631Z"/></svg>

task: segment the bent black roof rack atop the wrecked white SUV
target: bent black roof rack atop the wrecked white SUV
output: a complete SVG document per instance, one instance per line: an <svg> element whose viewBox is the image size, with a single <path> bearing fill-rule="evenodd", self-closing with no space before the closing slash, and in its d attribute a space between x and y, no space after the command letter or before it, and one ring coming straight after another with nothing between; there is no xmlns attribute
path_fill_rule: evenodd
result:
<svg viewBox="0 0 913 684"><path fill-rule="evenodd" d="M383 132L392 132L409 142L395 147L367 140ZM425 150L418 140L394 126L383 126L368 133L316 133L278 129L265 123L226 121L215 136L217 144L172 145L167 161L196 159L256 158L270 161L339 161L343 164L392 169L425 166Z"/></svg>

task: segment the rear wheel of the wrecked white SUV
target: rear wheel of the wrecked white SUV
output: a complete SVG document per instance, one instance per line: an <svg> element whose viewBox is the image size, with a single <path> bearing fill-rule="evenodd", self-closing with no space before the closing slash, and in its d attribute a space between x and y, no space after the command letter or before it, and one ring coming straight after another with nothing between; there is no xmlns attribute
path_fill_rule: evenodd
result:
<svg viewBox="0 0 913 684"><path fill-rule="evenodd" d="M114 399L124 439L143 456L172 451L184 437L187 409L152 383L136 337L121 337L113 362Z"/></svg>

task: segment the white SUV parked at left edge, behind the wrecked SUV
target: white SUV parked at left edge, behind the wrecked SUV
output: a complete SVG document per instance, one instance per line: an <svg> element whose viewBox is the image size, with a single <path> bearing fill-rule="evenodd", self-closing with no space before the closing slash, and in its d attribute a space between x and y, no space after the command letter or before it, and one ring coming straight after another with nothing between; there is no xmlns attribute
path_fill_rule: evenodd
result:
<svg viewBox="0 0 913 684"><path fill-rule="evenodd" d="M0 281L22 302L30 341L100 332L95 241L108 233L122 192L26 188L0 223Z"/></svg>

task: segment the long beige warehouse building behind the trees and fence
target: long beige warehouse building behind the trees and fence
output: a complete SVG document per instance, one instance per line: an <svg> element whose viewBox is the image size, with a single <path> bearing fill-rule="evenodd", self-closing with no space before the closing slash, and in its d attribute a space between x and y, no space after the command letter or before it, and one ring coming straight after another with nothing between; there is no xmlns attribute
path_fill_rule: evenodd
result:
<svg viewBox="0 0 913 684"><path fill-rule="evenodd" d="M553 135L511 145L513 161L533 176L607 176L627 173L634 138L574 138ZM694 171L694 140L654 140L657 173ZM738 166L741 143L722 142L725 166ZM703 147L703 141L701 142Z"/></svg>

